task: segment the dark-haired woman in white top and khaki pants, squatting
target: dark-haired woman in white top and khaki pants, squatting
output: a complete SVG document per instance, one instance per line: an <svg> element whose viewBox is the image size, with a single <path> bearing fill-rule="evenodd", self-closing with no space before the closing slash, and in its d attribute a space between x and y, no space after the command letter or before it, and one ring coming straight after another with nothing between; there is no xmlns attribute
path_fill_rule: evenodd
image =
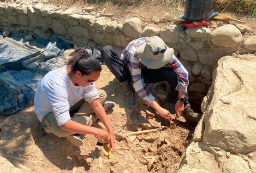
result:
<svg viewBox="0 0 256 173"><path fill-rule="evenodd" d="M107 118L113 102L105 102L107 94L95 88L101 73L99 61L78 49L67 65L45 75L40 82L34 111L46 133L65 137L72 145L83 145L84 134L107 139L114 149L114 134ZM107 130L90 127L97 119Z"/></svg>

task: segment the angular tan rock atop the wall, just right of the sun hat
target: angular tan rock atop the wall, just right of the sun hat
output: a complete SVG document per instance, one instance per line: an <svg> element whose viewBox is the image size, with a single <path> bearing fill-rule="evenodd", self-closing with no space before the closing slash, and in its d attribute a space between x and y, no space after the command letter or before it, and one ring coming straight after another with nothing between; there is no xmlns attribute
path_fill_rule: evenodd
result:
<svg viewBox="0 0 256 173"><path fill-rule="evenodd" d="M182 25L169 25L162 28L160 38L163 39L166 44L176 45L179 42L179 33L182 27Z"/></svg>

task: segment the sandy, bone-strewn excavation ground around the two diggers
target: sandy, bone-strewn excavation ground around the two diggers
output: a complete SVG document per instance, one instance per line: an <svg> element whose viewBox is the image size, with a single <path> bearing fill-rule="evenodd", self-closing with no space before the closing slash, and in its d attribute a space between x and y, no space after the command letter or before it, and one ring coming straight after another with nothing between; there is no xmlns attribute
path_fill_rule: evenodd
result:
<svg viewBox="0 0 256 173"><path fill-rule="evenodd" d="M131 136L126 139L116 137L114 159L109 160L101 152L101 146L95 146L97 142L95 136L86 135L84 145L74 147L64 138L46 134L33 112L33 106L30 106L13 114L11 121L6 123L5 128L0 132L0 154L16 167L30 173L84 173L86 171L106 173L110 172L110 167L116 173L124 170L130 173L146 173L147 165L141 162L154 158L155 161L150 167L151 172L175 173L192 138L194 127L181 117L176 120L177 128L173 129L167 120L156 115L152 108L144 105L142 101L137 102L134 110L127 109L119 82L105 65L102 67L96 86L107 92L107 100L117 103L113 112L108 115L116 136L130 131L144 130L143 123L146 123L149 129L162 126L163 129L160 132ZM174 113L173 104L166 103L165 107ZM155 113L155 117L149 118L145 110ZM0 123L2 123L4 116L0 117ZM100 122L95 123L94 126L104 127ZM161 154L154 152L167 143L170 144ZM92 161L85 162L76 155L89 157Z"/></svg>

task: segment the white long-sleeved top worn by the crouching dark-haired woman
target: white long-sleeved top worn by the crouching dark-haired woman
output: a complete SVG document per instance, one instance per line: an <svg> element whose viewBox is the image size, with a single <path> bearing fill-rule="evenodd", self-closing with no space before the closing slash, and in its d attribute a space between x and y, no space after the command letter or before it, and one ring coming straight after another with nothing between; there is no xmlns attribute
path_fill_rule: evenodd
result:
<svg viewBox="0 0 256 173"><path fill-rule="evenodd" d="M54 112L60 126L71 119L69 108L83 98L89 103L99 98L95 84L75 86L64 66L47 73L38 85L34 112L40 122L49 112Z"/></svg>

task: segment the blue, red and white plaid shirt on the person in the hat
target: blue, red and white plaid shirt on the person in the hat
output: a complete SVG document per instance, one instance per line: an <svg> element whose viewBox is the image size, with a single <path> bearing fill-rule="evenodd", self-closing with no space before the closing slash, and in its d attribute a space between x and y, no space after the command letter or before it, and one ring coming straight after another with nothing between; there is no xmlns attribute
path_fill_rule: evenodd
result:
<svg viewBox="0 0 256 173"><path fill-rule="evenodd" d="M133 40L122 52L121 59L126 62L126 65L130 70L135 91L143 100L150 104L155 100L155 97L149 93L149 90L147 89L141 74L141 69L147 67L141 63L136 53L137 47L145 43L147 40L148 37L142 37ZM176 90L186 93L189 84L187 70L174 55L169 62L169 65L178 75L178 85Z"/></svg>

